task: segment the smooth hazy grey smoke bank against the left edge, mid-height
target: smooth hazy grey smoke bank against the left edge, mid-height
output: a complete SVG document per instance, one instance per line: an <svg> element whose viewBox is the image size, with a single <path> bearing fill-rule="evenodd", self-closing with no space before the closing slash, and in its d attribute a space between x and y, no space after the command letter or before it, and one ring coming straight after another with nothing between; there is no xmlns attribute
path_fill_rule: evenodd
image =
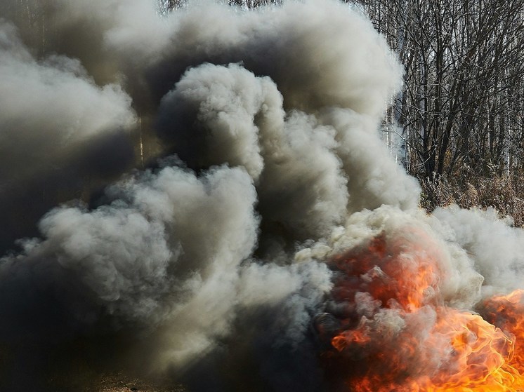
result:
<svg viewBox="0 0 524 392"><path fill-rule="evenodd" d="M0 249L34 233L37 219L79 189L129 168L131 98L96 86L79 60L36 60L0 22ZM25 203L20 203L20 201ZM35 233L36 234L36 233Z"/></svg>

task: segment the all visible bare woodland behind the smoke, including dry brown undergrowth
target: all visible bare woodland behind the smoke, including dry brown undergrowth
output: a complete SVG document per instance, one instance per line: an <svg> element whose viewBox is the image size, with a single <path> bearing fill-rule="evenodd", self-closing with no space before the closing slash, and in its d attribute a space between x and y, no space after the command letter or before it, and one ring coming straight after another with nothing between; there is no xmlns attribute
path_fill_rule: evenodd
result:
<svg viewBox="0 0 524 392"><path fill-rule="evenodd" d="M159 14L185 3L157 1ZM18 2L18 19L34 31L32 46L45 53L52 0ZM248 9L282 1L229 2ZM346 2L384 34L405 68L402 90L384 102L382 132L421 182L422 205L493 206L522 226L524 0Z"/></svg>

